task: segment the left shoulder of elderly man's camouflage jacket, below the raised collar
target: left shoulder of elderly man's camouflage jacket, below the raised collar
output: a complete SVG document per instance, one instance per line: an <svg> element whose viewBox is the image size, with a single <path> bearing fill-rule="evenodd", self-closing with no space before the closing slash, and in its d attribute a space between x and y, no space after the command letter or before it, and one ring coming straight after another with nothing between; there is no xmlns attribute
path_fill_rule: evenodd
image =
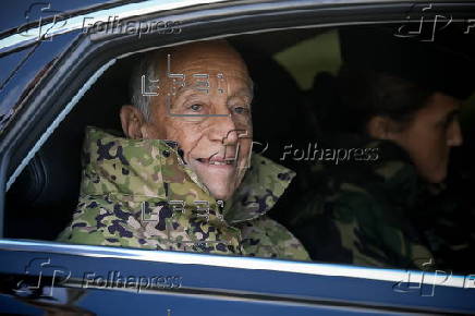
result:
<svg viewBox="0 0 475 316"><path fill-rule="evenodd" d="M157 250L158 241L146 238L141 222L107 197L81 196L71 224L57 241Z"/></svg>

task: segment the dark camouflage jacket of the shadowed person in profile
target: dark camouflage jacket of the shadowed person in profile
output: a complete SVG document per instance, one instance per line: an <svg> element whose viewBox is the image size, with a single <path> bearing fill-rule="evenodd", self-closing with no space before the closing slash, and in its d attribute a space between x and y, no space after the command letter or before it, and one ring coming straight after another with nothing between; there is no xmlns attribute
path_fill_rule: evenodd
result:
<svg viewBox="0 0 475 316"><path fill-rule="evenodd" d="M314 260L422 267L433 256L410 217L419 196L415 168L390 142L362 145L341 148L375 148L377 159L312 166L312 190L290 228Z"/></svg>

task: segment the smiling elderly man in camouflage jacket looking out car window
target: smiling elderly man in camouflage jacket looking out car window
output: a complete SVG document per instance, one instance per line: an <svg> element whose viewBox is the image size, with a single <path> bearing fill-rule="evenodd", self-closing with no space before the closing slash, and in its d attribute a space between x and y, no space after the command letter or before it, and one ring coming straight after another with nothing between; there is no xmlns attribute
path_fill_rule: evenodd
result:
<svg viewBox="0 0 475 316"><path fill-rule="evenodd" d="M80 203L59 241L308 259L266 216L294 172L251 154L252 81L234 49L148 53L131 87L125 138L86 131Z"/></svg>

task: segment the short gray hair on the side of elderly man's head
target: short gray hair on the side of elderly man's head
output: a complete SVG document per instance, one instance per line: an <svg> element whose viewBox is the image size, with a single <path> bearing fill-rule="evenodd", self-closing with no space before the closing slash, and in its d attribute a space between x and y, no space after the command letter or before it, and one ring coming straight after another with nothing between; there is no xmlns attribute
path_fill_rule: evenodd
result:
<svg viewBox="0 0 475 316"><path fill-rule="evenodd" d="M129 85L132 105L142 112L146 121L150 119L150 104L154 96L144 94L144 92L150 92L151 87L157 86L151 82L158 80L157 66L157 56L155 53L145 54L139 64L132 70ZM145 75L144 86L142 85L143 75Z"/></svg>

